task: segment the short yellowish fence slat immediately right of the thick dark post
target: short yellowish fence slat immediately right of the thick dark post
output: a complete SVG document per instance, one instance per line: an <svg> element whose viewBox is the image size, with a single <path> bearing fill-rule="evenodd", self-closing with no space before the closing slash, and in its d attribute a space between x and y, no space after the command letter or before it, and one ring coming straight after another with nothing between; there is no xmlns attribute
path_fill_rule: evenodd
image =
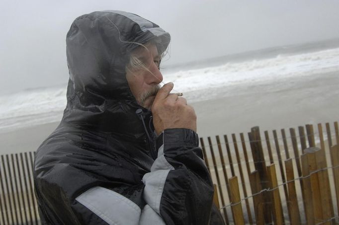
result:
<svg viewBox="0 0 339 225"><path fill-rule="evenodd" d="M272 212L273 212L274 224L282 225L284 224L284 216L282 213L281 200L280 200L280 194L279 194L279 188L278 188L278 182L276 178L274 164L267 166L267 174L268 174L268 179L269 179L269 184L270 184L269 185L270 191L272 192L272 200L273 200Z"/></svg>

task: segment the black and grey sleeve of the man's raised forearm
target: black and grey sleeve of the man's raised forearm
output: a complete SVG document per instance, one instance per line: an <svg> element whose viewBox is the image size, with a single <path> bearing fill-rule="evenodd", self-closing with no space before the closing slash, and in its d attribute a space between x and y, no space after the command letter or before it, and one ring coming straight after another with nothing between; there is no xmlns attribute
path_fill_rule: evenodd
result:
<svg viewBox="0 0 339 225"><path fill-rule="evenodd" d="M158 158L145 174L144 199L167 225L207 225L213 184L198 148L198 136L188 129L165 130L157 140Z"/></svg>

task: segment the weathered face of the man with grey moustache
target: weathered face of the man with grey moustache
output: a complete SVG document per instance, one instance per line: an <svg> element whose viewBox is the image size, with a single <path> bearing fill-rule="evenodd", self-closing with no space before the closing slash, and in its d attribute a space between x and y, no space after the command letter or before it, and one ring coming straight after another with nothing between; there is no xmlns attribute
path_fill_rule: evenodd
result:
<svg viewBox="0 0 339 225"><path fill-rule="evenodd" d="M139 47L132 54L146 67L131 67L126 70L126 78L132 94L139 105L150 109L154 98L163 81L163 75L159 71L160 56L155 45Z"/></svg>

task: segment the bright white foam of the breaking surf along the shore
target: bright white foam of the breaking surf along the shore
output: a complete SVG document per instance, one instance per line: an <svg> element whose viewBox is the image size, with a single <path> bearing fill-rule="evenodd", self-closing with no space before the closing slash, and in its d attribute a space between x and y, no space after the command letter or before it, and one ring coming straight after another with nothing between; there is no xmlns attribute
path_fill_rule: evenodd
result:
<svg viewBox="0 0 339 225"><path fill-rule="evenodd" d="M189 102L234 94L231 86L252 86L260 82L288 80L339 72L339 48L275 58L227 63L218 67L165 73L176 91ZM0 96L0 132L59 121L66 106L66 87L22 91Z"/></svg>

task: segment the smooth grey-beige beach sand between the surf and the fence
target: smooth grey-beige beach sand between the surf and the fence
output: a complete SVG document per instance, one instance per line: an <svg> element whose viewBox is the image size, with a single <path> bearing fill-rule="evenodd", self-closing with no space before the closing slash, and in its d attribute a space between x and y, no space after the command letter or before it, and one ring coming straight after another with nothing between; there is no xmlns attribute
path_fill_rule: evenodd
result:
<svg viewBox="0 0 339 225"><path fill-rule="evenodd" d="M338 87L336 73L225 87L232 94L191 104L198 117L197 133L205 138L247 134L254 126L263 132L305 124L333 124L339 120ZM0 133L0 154L36 150L58 124Z"/></svg>

